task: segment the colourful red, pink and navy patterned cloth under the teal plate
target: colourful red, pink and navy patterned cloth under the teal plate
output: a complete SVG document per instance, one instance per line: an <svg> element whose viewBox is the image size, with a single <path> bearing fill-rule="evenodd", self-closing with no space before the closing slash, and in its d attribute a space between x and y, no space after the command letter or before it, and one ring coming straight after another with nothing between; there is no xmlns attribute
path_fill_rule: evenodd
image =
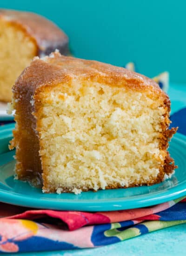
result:
<svg viewBox="0 0 186 256"><path fill-rule="evenodd" d="M133 63L128 63L127 68L135 70ZM167 91L167 73L154 80ZM186 108L174 113L171 120L172 126L179 126L179 133L186 135L184 115ZM186 198L153 207L98 213L27 209L0 203L0 252L94 248L181 223L186 223Z"/></svg>

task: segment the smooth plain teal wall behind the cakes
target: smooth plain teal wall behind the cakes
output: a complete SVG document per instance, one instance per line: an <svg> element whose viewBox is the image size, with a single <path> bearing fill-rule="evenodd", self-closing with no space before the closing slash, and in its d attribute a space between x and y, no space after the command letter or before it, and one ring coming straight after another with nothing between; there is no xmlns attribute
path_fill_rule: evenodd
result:
<svg viewBox="0 0 186 256"><path fill-rule="evenodd" d="M77 57L134 61L149 77L168 70L172 82L186 82L185 0L0 0L0 7L53 20Z"/></svg>

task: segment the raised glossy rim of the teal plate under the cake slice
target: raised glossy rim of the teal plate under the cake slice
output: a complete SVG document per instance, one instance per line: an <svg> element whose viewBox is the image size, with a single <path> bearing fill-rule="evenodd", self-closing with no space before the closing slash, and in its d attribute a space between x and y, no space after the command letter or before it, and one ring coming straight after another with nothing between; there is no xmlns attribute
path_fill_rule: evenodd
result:
<svg viewBox="0 0 186 256"><path fill-rule="evenodd" d="M4 128L0 129L0 136L2 133L5 135L7 133L10 136L11 129L14 124L5 125ZM179 143L184 143L186 146L186 136L177 133L174 135L173 140L179 141ZM179 190L178 190L179 188ZM82 192L87 193L87 192ZM95 193L95 192L92 192ZM99 193L99 192L98 192ZM42 195L42 192L41 192ZM124 209L136 209L141 207L148 207L157 205L159 203L168 202L171 200L178 199L179 197L186 196L186 186L185 182L183 184L179 184L177 189L175 187L167 189L163 192L154 192L153 197L152 193L148 194L145 198L140 198L141 195L136 195L135 198L131 201L130 198L107 198L107 199L98 199L98 201L93 201L85 199L80 202L73 202L72 199L61 199L59 202L57 198L34 198L31 195L15 195L12 191L8 192L4 189L0 189L0 202L11 203L14 205L20 205L30 208L42 208L42 209L56 209L56 210L82 210L82 211L113 211L113 210L124 210ZM60 195L59 195L60 197Z"/></svg>

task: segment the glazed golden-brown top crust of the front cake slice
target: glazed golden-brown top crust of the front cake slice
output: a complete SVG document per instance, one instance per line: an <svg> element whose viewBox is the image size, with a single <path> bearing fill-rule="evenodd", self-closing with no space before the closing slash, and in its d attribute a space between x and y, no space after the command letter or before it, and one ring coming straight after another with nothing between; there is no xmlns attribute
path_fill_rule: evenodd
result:
<svg viewBox="0 0 186 256"><path fill-rule="evenodd" d="M43 86L54 86L59 83L70 82L73 79L81 81L94 81L110 86L123 87L149 91L152 98L159 98L170 108L168 96L159 88L159 85L152 79L142 74L127 70L123 67L116 67L99 61L88 61L74 57L66 57L58 51L44 58L34 58L18 77L13 91L27 87L32 94L36 89Z"/></svg>

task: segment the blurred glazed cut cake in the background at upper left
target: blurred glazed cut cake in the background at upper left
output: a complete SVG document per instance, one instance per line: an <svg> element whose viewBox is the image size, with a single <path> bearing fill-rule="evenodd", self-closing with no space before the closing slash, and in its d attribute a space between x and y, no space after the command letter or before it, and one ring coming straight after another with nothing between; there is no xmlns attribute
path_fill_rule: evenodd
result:
<svg viewBox="0 0 186 256"><path fill-rule="evenodd" d="M53 22L34 13L0 9L0 101L11 101L12 86L34 56L56 48L68 53L68 38Z"/></svg>

